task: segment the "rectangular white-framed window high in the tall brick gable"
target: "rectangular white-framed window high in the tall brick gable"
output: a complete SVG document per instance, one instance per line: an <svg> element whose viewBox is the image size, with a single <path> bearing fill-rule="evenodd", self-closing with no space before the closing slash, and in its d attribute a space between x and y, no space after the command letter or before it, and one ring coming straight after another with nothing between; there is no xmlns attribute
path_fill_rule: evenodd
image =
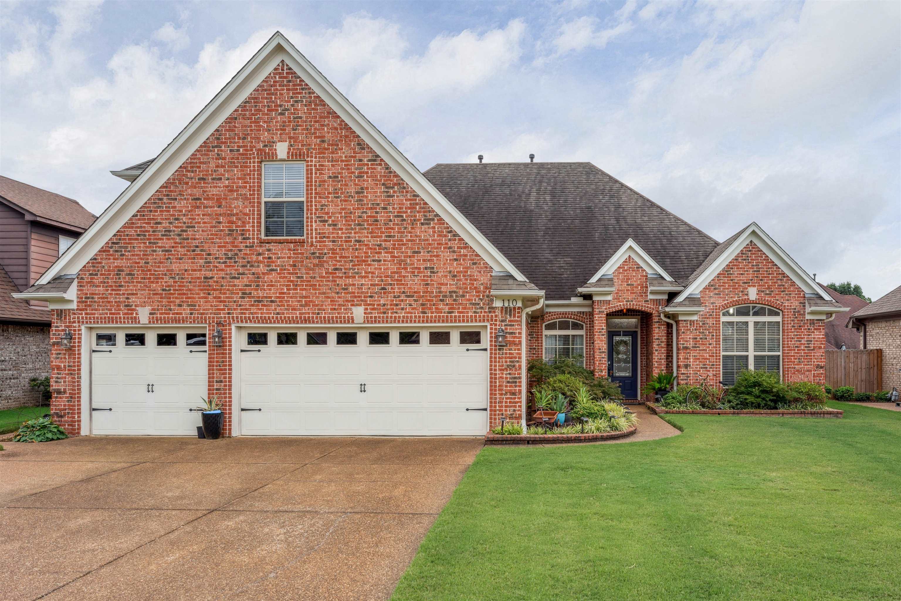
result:
<svg viewBox="0 0 901 601"><path fill-rule="evenodd" d="M303 238L306 163L263 163L263 236Z"/></svg>

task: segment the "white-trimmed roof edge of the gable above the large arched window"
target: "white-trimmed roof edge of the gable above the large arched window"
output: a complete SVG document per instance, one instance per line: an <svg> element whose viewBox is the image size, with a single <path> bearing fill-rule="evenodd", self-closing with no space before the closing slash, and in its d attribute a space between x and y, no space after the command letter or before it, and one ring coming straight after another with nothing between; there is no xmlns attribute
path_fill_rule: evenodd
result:
<svg viewBox="0 0 901 601"><path fill-rule="evenodd" d="M685 289L673 299L670 305L681 303L689 295L698 294L749 242L754 242L760 250L763 250L769 259L778 265L779 269L782 269L798 287L805 291L805 294L828 301L828 307L838 306L834 303L833 297L826 294L824 289L814 281L814 278L811 278L810 274L802 269L785 250L782 250L782 247L770 238L760 225L754 222L734 233L728 240L718 244L711 251L710 256L687 278ZM844 310L846 309L842 309L842 311Z"/></svg>

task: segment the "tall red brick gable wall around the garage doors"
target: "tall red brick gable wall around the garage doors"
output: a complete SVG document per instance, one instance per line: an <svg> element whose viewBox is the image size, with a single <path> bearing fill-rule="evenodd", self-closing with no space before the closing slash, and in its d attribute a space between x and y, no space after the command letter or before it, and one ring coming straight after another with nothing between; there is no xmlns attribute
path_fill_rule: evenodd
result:
<svg viewBox="0 0 901 601"><path fill-rule="evenodd" d="M305 240L260 239L261 161L307 162ZM209 394L231 432L232 323L488 323L489 423L521 413L521 313L494 307L492 269L301 77L278 65L78 274L77 309L55 311L54 411L80 428L81 326L223 323Z"/></svg>

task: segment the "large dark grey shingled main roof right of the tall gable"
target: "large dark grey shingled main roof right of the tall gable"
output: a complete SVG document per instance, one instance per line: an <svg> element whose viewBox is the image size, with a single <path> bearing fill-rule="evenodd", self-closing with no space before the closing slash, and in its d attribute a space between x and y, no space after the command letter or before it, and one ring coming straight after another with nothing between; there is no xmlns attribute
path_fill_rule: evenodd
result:
<svg viewBox="0 0 901 601"><path fill-rule="evenodd" d="M569 300L630 238L677 280L717 244L587 162L439 163L424 174L549 300Z"/></svg>

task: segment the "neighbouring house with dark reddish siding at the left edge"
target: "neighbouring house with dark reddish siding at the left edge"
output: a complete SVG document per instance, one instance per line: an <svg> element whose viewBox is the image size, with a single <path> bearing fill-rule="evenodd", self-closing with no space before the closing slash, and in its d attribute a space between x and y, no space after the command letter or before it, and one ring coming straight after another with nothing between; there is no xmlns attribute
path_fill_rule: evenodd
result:
<svg viewBox="0 0 901 601"><path fill-rule="evenodd" d="M59 259L95 216L76 201L0 176L0 408L32 405L50 374L50 311L14 298Z"/></svg>

